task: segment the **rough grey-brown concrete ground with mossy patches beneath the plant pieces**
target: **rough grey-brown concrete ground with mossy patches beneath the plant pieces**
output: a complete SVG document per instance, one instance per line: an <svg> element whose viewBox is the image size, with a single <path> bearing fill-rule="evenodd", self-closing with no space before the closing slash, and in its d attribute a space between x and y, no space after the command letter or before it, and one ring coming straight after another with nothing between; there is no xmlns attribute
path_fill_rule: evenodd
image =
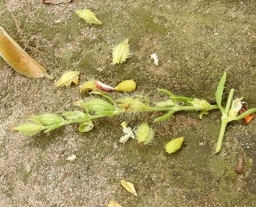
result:
<svg viewBox="0 0 256 207"><path fill-rule="evenodd" d="M86 24L77 9L89 8L103 22ZM256 107L255 1L112 1L74 0L50 5L36 0L0 0L0 25L55 81L64 71L82 72L115 86L137 83L137 94L151 104L165 100L157 88L214 103L217 82L227 72L226 94L244 97ZM111 51L129 38L133 56L111 64ZM154 66L150 55L159 56ZM256 120L231 122L223 148L213 154L220 129L219 110L202 120L198 112L179 112L153 122L161 112L116 116L94 121L80 133L68 125L51 133L25 137L10 127L32 114L77 110L77 86L54 88L55 81L18 74L0 58L0 206L256 206ZM118 98L121 93L114 93ZM226 102L227 95L223 102ZM136 140L119 143L121 122L148 122L156 143L140 147ZM175 154L167 141L185 137ZM243 155L240 174L238 155ZM77 160L68 162L75 154ZM137 197L120 180L132 182Z"/></svg>

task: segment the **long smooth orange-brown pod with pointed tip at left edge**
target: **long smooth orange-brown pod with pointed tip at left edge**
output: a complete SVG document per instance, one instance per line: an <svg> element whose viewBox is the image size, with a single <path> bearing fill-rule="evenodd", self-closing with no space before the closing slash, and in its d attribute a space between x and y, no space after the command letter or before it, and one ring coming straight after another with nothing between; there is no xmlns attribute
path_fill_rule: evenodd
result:
<svg viewBox="0 0 256 207"><path fill-rule="evenodd" d="M16 41L12 39L0 26L0 55L3 59L20 74L31 78L49 78L43 66L40 66L35 60L26 53Z"/></svg>

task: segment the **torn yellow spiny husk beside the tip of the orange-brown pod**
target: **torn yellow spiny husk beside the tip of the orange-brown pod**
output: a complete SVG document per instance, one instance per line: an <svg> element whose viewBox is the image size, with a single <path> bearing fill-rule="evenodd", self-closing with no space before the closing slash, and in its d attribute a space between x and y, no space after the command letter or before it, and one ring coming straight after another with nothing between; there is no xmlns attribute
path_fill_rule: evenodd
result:
<svg viewBox="0 0 256 207"><path fill-rule="evenodd" d="M80 72L77 71L69 71L64 73L58 82L54 83L55 87L59 87L59 86L66 86L66 87L70 87L71 83L74 82L75 85L78 85L79 83L79 75Z"/></svg>

